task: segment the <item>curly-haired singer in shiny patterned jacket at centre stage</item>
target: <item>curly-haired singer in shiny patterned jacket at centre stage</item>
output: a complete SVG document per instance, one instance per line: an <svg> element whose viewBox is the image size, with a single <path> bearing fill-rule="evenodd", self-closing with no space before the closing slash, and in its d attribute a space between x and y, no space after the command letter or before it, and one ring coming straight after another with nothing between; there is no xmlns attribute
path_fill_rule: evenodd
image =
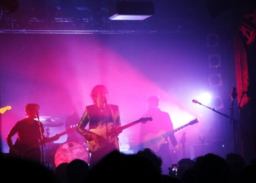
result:
<svg viewBox="0 0 256 183"><path fill-rule="evenodd" d="M118 128L121 126L121 122L118 106L107 104L108 90L104 85L96 85L92 89L90 96L94 104L86 106L85 112L78 124L77 131L88 141L94 140L97 145L105 144L103 148L91 152L90 167L92 167L108 152L119 150L117 137L119 133L112 137L114 142L108 143L109 141L107 141L106 138L86 130L86 125L89 125L89 130L106 128L109 123L114 123L114 128Z"/></svg>

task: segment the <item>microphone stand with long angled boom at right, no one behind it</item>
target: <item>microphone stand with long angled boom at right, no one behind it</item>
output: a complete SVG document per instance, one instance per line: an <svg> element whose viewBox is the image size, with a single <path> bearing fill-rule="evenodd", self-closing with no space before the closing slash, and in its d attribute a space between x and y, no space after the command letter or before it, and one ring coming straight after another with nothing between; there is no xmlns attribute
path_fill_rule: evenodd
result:
<svg viewBox="0 0 256 183"><path fill-rule="evenodd" d="M223 114L222 112L219 112L219 111L215 110L214 108L210 108L208 106L205 106L204 104L202 104L200 102L194 102L194 103L197 103L197 104L200 104L202 106L205 106L206 108L209 108L210 110L213 110L214 112L216 112L216 113L218 113L218 114L220 114L222 116L225 116L226 118L230 119L230 123L233 123L233 130L234 130L234 150L235 150L235 153L238 153L238 140L237 140L236 123L238 123L239 121L234 119L234 112L233 112L234 97L231 97L231 98L232 98L232 102L231 102L231 107L230 107L230 116L228 116L226 114Z"/></svg>

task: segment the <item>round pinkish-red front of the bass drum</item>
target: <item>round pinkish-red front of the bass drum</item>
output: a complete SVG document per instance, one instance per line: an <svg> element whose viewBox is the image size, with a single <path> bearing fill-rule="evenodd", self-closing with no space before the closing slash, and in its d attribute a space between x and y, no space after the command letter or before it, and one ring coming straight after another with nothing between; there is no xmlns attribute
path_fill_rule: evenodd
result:
<svg viewBox="0 0 256 183"><path fill-rule="evenodd" d="M82 159L88 163L88 151L77 142L66 142L62 144L54 155L54 163L57 167L61 163L70 163L74 159Z"/></svg>

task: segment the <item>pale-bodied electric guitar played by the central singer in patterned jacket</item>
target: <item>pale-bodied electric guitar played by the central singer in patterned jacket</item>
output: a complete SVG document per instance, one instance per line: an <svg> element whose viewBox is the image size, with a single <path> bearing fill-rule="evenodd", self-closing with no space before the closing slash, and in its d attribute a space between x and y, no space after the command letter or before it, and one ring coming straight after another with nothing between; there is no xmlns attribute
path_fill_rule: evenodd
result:
<svg viewBox="0 0 256 183"><path fill-rule="evenodd" d="M120 126L118 128L114 128L114 123L108 123L108 143L118 143L117 135L122 132L122 130L129 128L135 124L138 124L140 122L146 123L147 121L152 121L152 117L144 117L140 118L139 120L136 120L134 122L131 122L129 124L126 124L124 126ZM99 149L106 146L107 143L107 133L106 133L106 125L102 128L95 128L89 130L90 132L93 132L101 137L103 137L103 140L100 144L96 144L93 139L86 139L86 143L88 145L88 148L91 152L98 151Z"/></svg>

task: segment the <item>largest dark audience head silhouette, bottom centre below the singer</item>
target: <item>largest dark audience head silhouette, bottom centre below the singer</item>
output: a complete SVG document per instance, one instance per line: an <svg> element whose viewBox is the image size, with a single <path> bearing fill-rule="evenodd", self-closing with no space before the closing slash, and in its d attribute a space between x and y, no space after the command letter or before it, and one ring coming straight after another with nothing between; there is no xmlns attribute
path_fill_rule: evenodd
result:
<svg viewBox="0 0 256 183"><path fill-rule="evenodd" d="M152 161L137 155L113 151L98 162L89 172L89 182L158 183L161 175Z"/></svg>

